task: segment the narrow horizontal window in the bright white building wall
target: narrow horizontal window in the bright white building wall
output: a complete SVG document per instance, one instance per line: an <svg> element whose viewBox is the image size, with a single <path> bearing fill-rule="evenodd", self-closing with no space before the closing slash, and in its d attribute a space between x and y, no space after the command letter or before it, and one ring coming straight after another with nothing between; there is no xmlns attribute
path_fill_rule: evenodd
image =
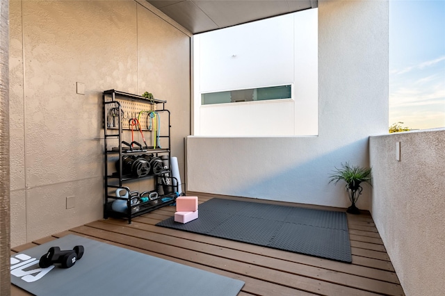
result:
<svg viewBox="0 0 445 296"><path fill-rule="evenodd" d="M271 99L291 99L291 85L271 86L269 88L250 88L201 94L201 104L225 104L240 101L264 101Z"/></svg>

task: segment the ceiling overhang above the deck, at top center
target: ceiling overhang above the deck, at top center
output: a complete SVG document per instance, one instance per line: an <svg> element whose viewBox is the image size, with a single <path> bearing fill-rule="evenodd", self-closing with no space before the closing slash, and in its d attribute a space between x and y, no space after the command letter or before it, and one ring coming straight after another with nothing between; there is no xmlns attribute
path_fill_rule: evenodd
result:
<svg viewBox="0 0 445 296"><path fill-rule="evenodd" d="M318 0L147 0L193 34L316 8Z"/></svg>

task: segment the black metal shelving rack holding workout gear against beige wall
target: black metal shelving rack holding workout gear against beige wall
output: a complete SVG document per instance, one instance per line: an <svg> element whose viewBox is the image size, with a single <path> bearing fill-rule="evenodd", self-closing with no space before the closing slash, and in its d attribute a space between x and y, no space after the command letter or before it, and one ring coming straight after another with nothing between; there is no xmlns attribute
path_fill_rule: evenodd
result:
<svg viewBox="0 0 445 296"><path fill-rule="evenodd" d="M163 101L160 99L146 99L145 97L138 96L137 94L129 94L127 92L120 92L118 90L106 90L103 92L103 111L104 111L104 219L108 217L122 217L128 220L129 224L131 224L131 218L137 217L138 215L143 215L144 213L148 213L150 211L154 211L157 208L161 208L163 206L168 206L170 204L175 203L177 198L177 185L169 185L172 187L172 193L168 193L165 195L159 195L155 199L149 199L147 202L140 202L137 204L138 211L132 211L134 205L131 204L131 190L128 186L124 186L124 183L127 181L134 181L138 179L149 179L154 178L154 188L153 191L160 192L161 191L161 183L159 182L159 175L149 174L147 176L132 176L125 175L122 172L122 158L123 156L137 156L140 154L152 154L154 156L168 155L168 167L170 165L171 159L171 151L170 151L170 111L165 109L165 103L167 101ZM124 107L124 106L126 107ZM167 133L163 133L159 135L159 138L165 138L168 142L168 147L163 149L159 147L143 147L143 151L141 149L123 149L122 148L122 133L124 131L129 131L129 126L124 126L123 117L124 112L130 113L131 111L124 111L124 108L133 108L138 109L142 106L150 106L156 105L156 113L163 114L166 113L168 116L168 131ZM160 107L160 108L159 108ZM115 109L115 118L113 120L109 120L109 113L111 108ZM133 114L136 114L136 111L133 111ZM145 129L145 131L149 131ZM108 146L111 141L118 142L118 147L113 147L114 149L110 149ZM156 144L155 144L156 145ZM118 165L116 168L116 172L110 174L108 172L108 164L111 163L110 158L118 157ZM176 184L178 184L177 179L171 176L163 176L171 180L171 184L173 184L173 180L176 180ZM163 185L165 186L165 185ZM111 195L110 190L115 190L120 188L121 190L126 190L129 198L117 197L116 195ZM127 202L127 211L117 212L113 211L112 204L116 199L125 200Z"/></svg>

